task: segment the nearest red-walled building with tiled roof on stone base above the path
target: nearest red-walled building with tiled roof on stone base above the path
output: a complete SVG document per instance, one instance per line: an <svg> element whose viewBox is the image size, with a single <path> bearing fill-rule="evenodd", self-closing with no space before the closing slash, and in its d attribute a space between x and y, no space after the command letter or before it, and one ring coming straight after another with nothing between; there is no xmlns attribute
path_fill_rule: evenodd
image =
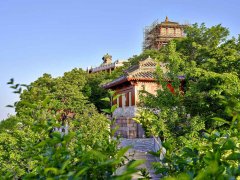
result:
<svg viewBox="0 0 240 180"><path fill-rule="evenodd" d="M138 65L130 67L123 76L103 86L106 89L115 90L116 94L120 95L113 102L118 105L113 113L113 118L116 118L116 125L119 126L116 133L122 137L141 138L144 136L141 125L132 118L136 115L139 92L145 90L156 94L156 90L161 88L154 78L156 66L157 62L149 57L140 61ZM166 71L165 64L162 63L159 66Z"/></svg>

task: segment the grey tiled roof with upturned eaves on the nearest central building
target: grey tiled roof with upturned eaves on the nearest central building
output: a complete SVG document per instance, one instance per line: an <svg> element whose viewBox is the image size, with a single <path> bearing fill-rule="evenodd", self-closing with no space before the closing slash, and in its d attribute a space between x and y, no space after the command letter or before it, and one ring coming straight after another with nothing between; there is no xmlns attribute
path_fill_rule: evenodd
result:
<svg viewBox="0 0 240 180"><path fill-rule="evenodd" d="M162 67L165 64L160 64ZM147 59L140 61L138 65L131 66L128 68L124 75L104 84L103 87L108 89L119 84L122 84L127 81L155 81L154 72L156 70L157 62L152 58L148 57Z"/></svg>

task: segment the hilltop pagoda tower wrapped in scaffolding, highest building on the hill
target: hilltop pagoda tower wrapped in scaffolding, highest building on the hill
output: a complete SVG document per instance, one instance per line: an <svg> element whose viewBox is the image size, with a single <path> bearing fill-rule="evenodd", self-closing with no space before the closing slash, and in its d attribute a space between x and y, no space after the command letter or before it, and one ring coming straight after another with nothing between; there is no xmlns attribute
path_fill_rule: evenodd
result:
<svg viewBox="0 0 240 180"><path fill-rule="evenodd" d="M183 37L186 26L187 25L169 21L168 17L161 23L155 21L144 30L143 50L160 49L170 40Z"/></svg>

